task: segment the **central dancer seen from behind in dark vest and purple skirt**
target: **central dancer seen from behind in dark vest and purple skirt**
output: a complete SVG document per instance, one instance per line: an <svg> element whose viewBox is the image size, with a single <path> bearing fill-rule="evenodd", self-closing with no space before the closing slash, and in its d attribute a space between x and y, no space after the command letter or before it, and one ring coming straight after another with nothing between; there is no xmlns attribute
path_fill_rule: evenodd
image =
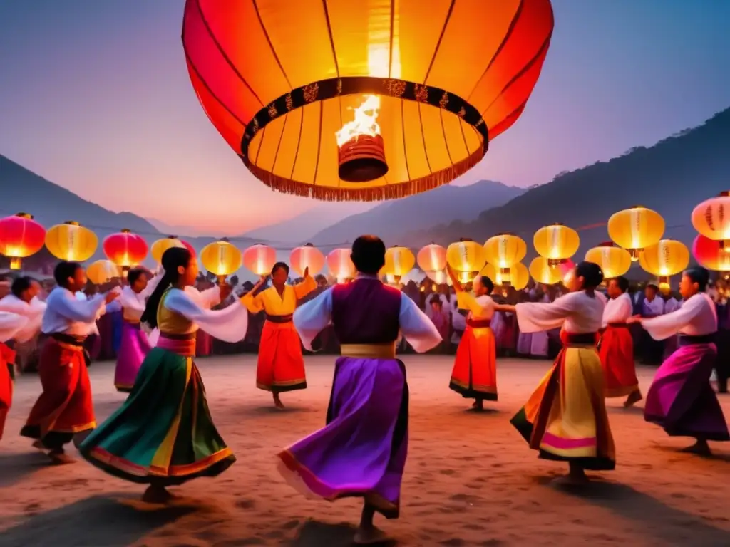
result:
<svg viewBox="0 0 730 547"><path fill-rule="evenodd" d="M408 384L396 358L402 333L416 352L439 345L441 335L413 300L380 282L385 244L361 236L350 257L355 281L338 284L294 312L304 347L328 325L341 345L323 429L280 452L284 478L307 496L334 501L362 497L355 543L379 543L375 512L399 515L408 446Z"/></svg>

